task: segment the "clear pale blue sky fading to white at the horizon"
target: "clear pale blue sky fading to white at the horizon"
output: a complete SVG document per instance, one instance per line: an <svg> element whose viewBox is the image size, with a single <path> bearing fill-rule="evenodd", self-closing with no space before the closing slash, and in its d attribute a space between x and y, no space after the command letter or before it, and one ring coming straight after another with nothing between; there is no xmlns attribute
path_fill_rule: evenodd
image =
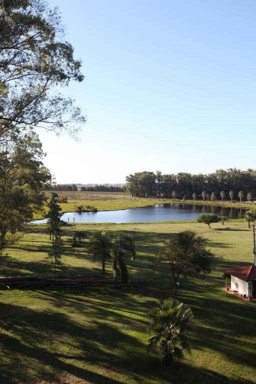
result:
<svg viewBox="0 0 256 384"><path fill-rule="evenodd" d="M38 130L57 183L255 168L256 1L50 0L84 80L79 141Z"/></svg>

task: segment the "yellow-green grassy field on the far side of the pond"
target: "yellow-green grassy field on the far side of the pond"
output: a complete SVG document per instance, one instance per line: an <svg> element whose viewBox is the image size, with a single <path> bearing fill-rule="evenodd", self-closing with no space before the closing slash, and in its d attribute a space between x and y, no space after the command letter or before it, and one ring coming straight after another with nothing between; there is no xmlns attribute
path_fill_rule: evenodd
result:
<svg viewBox="0 0 256 384"><path fill-rule="evenodd" d="M128 192L88 192L88 191L57 191L59 197L67 196L67 203L60 203L62 212L73 212L75 211L75 206L77 205L94 205L97 210L116 210L116 209L126 209L126 208L136 208L141 206L149 206L154 204L163 204L169 202L181 202L181 203L197 203L203 204L202 200L173 200L165 198L141 198L141 197L131 197ZM49 198L51 192L47 191L46 196ZM222 205L222 206L232 206L236 208L251 208L251 205L246 203L230 203L230 201L205 201L204 204L207 205ZM253 207L255 207L253 205ZM45 210L47 208L45 207ZM39 219L44 216L43 212L35 212L34 218Z"/></svg>

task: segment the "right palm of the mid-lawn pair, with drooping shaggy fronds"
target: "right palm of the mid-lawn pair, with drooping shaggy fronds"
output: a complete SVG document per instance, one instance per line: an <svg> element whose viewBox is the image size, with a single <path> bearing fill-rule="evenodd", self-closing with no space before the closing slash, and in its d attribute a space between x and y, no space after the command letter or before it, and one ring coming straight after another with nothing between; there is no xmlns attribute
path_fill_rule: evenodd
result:
<svg viewBox="0 0 256 384"><path fill-rule="evenodd" d="M123 260L123 256L126 254L131 255L132 260L135 258L134 240L131 235L117 236L111 251L114 288L116 287L118 276L121 277L122 282L127 283L128 281L128 270Z"/></svg>

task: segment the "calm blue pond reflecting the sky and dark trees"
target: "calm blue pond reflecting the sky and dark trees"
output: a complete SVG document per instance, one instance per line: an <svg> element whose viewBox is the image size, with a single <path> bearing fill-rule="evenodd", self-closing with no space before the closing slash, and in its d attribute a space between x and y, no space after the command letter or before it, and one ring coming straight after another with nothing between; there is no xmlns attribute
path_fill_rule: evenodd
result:
<svg viewBox="0 0 256 384"><path fill-rule="evenodd" d="M246 209L193 204L157 204L149 207L105 210L100 212L67 212L61 219L69 222L152 222L169 220L195 220L198 214L214 213L226 218L242 218ZM46 222L46 219L33 223Z"/></svg>

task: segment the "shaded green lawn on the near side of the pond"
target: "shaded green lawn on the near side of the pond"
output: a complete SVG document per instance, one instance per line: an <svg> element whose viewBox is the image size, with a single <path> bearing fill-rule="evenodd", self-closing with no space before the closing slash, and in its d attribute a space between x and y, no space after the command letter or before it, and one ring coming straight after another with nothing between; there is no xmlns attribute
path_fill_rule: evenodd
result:
<svg viewBox="0 0 256 384"><path fill-rule="evenodd" d="M186 228L206 236L218 258L204 279L179 279L177 298L194 313L192 353L167 367L160 356L147 353L147 312L155 299L173 295L173 282L166 270L152 272L151 259L162 240ZM71 235L78 229L87 238L72 248ZM212 229L196 222L70 225L63 227L66 250L59 273L101 273L100 262L87 255L95 229L134 236L137 257L127 259L129 278L145 285L138 290L1 290L1 384L254 382L256 305L222 289L223 268L252 263L252 231L245 222L215 223ZM2 258L1 275L51 273L49 248L45 226L27 225L20 242L8 249L9 257Z"/></svg>

